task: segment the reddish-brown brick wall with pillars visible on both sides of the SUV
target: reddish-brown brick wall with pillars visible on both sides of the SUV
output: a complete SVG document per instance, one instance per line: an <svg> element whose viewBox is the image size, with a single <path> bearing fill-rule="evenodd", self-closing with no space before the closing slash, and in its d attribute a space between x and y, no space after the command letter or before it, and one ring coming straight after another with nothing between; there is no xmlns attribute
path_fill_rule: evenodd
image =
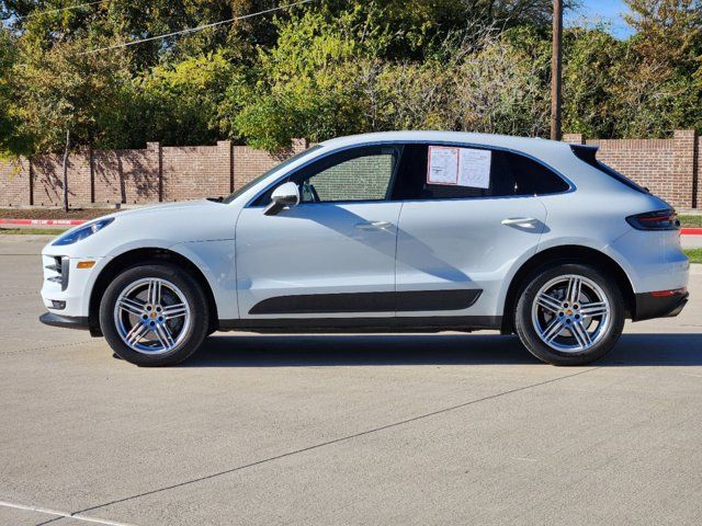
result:
<svg viewBox="0 0 702 526"><path fill-rule="evenodd" d="M598 159L647 186L679 208L697 208L702 169L702 137L678 130L671 139L586 139L566 134L564 140L599 146ZM215 146L80 150L68 165L71 207L143 204L225 196L307 147L295 140L290 151L272 156L247 146L219 141ZM60 206L61 156L0 161L0 206ZM320 181L321 182L321 181Z"/></svg>

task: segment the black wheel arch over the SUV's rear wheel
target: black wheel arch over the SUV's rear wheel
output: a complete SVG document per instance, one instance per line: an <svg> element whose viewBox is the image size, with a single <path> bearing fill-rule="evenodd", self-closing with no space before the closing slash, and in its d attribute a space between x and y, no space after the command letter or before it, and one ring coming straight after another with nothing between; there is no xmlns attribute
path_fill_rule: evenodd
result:
<svg viewBox="0 0 702 526"><path fill-rule="evenodd" d="M519 293L523 286L523 282L529 274L541 266L563 263L587 263L607 273L614 279L622 291L626 318L632 318L635 315L636 301L634 288L626 272L624 272L624 268L622 268L616 261L605 253L589 247L578 244L558 245L536 252L522 263L512 277L509 288L507 289L502 309L502 334L511 334L514 332L514 307L519 299Z"/></svg>

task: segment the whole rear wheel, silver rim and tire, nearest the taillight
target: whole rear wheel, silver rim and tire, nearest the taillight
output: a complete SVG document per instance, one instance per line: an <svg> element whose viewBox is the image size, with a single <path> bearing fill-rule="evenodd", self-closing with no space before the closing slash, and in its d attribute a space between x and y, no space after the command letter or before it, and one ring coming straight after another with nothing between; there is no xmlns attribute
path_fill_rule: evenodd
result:
<svg viewBox="0 0 702 526"><path fill-rule="evenodd" d="M585 365L604 356L624 327L624 301L615 283L586 264L561 264L532 274L514 315L517 334L537 358Z"/></svg>

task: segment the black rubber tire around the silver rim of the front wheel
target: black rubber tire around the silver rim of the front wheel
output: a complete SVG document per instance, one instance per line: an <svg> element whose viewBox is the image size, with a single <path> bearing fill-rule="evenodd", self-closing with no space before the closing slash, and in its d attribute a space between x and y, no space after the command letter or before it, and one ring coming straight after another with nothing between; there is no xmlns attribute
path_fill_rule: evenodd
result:
<svg viewBox="0 0 702 526"><path fill-rule="evenodd" d="M190 307L190 323L173 348L162 354L148 354L131 348L120 335L114 308L120 294L144 278L160 278L176 285ZM202 344L210 328L207 300L200 284L179 266L168 262L154 262L132 266L118 274L100 301L100 328L114 351L123 359L143 367L176 365L190 357Z"/></svg>

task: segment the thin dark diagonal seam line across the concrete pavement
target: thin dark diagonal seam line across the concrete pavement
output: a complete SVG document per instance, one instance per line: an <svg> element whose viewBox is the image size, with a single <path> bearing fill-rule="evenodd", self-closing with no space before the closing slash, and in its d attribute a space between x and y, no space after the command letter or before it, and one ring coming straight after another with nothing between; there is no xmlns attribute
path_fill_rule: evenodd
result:
<svg viewBox="0 0 702 526"><path fill-rule="evenodd" d="M443 409L439 409L437 411L431 411L429 413L419 414L417 416L412 416L412 418L409 418L409 419L400 420L400 421L397 421L397 422L392 422L392 423L386 424L386 425L381 425L378 427L373 427L371 430L361 431L359 433L353 433L351 435L341 436L341 437L335 438L332 441L321 442L319 444L314 444L312 446L303 447L303 448L295 449L295 450L292 450L292 451L282 453L280 455L275 455L275 456L272 456L272 457L263 458L261 460L256 460L253 462L245 464L245 465L241 465L241 466L236 466L234 468L225 469L223 471L217 471L215 473L205 474L203 477L197 477L197 478L194 478L194 479L185 480L185 481L182 481L182 482L178 482L176 484L165 485L162 488L157 488L156 490L145 491L143 493L137 493L135 495L129 495L129 496L125 496L125 498L122 498L122 499L116 499L114 501L105 502L105 503L102 503L102 504L97 504L94 506L86 507L83 510L79 510L77 512L73 512L73 513L71 513L71 516L77 516L79 514L91 512L91 511L94 511L94 510L99 510L101 507L106 507L106 506L111 506L111 505L114 505L114 504L121 504L123 502L133 501L133 500L136 500L136 499L140 499L143 496L149 496L149 495L154 495L156 493L161 493L161 492L165 492L165 491L174 490L177 488L182 488L182 487L185 487L185 485L191 485L191 484L195 484L195 483L199 483L199 482L204 482L205 480L215 479L215 478L218 478L218 477L223 477L225 474L234 473L236 471L241 471L241 470L245 470L245 469L253 468L256 466L261 466L263 464L268 464L268 462L272 462L272 461L275 461L275 460L280 460L282 458L292 457L294 455L299 455L302 453L307 453L307 451L312 451L314 449L320 449L322 447L331 446L331 445L335 445L335 444L340 444L342 442L352 441L352 439L359 438L361 436L366 436L366 435L371 435L371 434L374 434L374 433L380 433L382 431L390 430L393 427L399 427L401 425L410 424L412 422L417 422L417 421L424 420L424 419L430 419L430 418L437 416L439 414L444 414L444 413L449 413L449 412L452 412L452 411L456 411L456 410L466 408L468 405L474 405L476 403L486 402L486 401L489 401L489 400L495 400L497 398L506 397L508 395L513 395L516 392L521 392L521 391L525 391L528 389L533 389L533 388L536 388L536 387L546 386L548 384L554 384L556 381L565 380L565 379L568 379L568 378L574 378L576 376L585 375L587 373L591 373L591 371L600 369L603 366L591 367L589 369L579 370L578 373L573 373L570 375L564 375L564 376L556 377L556 378L552 378L550 380L539 381L536 384L530 384L528 386L517 387L514 389L509 389L507 391L497 392L495 395L489 395L487 397L476 398L474 400L468 400L467 402L458 403L456 405L451 405L449 408L443 408Z"/></svg>

